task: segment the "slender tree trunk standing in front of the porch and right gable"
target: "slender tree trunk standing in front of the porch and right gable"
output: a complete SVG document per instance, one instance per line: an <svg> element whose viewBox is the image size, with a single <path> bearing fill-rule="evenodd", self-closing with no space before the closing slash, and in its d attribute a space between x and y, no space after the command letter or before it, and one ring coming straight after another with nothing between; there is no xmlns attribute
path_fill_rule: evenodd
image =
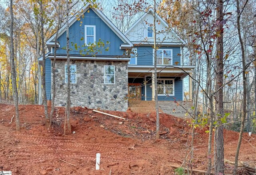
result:
<svg viewBox="0 0 256 175"><path fill-rule="evenodd" d="M154 24L153 24L153 32L154 32L154 87L155 87L155 103L156 103L156 139L160 137L160 120L159 120L159 107L158 107L158 91L157 91L157 69L156 69L156 0L154 0ZM152 82L153 83L153 82Z"/></svg>

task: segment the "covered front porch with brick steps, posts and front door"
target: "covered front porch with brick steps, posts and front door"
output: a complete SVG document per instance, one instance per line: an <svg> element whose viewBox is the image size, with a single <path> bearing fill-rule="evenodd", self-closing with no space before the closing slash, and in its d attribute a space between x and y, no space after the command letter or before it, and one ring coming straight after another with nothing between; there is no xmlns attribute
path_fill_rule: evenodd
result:
<svg viewBox="0 0 256 175"><path fill-rule="evenodd" d="M184 97L184 78L192 72L190 66L182 68L158 68L158 104L159 111L184 117L186 109L192 107L192 86L189 83L189 97ZM128 108L132 112L156 112L154 72L146 66L128 68ZM182 107L183 106L183 107Z"/></svg>

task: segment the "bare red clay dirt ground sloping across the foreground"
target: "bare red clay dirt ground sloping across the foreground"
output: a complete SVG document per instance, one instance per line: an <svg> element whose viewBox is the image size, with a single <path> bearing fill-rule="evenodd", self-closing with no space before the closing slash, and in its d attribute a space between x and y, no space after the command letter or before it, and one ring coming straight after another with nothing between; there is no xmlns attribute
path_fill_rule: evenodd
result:
<svg viewBox="0 0 256 175"><path fill-rule="evenodd" d="M13 175L172 175L170 164L182 164L186 143L191 141L189 122L164 113L160 114L160 132L166 134L155 140L155 113L104 111L128 119L121 121L73 107L72 132L63 135L64 108L56 107L50 129L44 125L42 105L20 105L19 109L22 128L17 132L15 118L10 123L14 106L0 104L0 171ZM207 167L206 130L196 129L194 169ZM238 134L224 131L225 159L234 161ZM252 137L256 135L244 133L239 159L256 165ZM101 153L100 170L95 170L96 153ZM228 164L226 169L232 172Z"/></svg>

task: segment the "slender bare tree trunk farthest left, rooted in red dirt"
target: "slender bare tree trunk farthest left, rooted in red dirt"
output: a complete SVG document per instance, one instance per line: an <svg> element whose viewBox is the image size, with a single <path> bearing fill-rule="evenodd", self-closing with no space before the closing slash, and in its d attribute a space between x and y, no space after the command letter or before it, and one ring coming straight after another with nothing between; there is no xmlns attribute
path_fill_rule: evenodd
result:
<svg viewBox="0 0 256 175"><path fill-rule="evenodd" d="M12 0L10 0L10 17L11 17L11 25L10 25L10 43L11 43L11 74L12 74L12 89L13 89L13 101L15 105L15 113L16 113L16 131L20 131L20 114L18 107L18 89L16 82L16 67L14 61L14 45L13 45L13 11L12 11Z"/></svg>

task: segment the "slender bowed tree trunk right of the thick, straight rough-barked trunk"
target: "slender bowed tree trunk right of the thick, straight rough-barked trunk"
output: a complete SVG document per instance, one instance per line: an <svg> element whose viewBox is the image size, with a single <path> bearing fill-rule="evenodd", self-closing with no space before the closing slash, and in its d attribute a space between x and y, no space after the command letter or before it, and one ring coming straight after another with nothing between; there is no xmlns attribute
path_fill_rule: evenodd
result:
<svg viewBox="0 0 256 175"><path fill-rule="evenodd" d="M236 169L238 166L238 156L239 156L239 151L240 151L240 146L242 142L242 135L244 131L244 121L246 118L246 62L245 62L245 50L244 50L244 42L242 40L241 36L241 30L240 30L240 7L239 7L239 0L236 0L236 12L237 12L237 30L238 30L238 37L239 37L239 42L241 46L241 52L242 52L242 67L243 67L243 107L242 107L242 117L241 117L241 127L240 127L240 132L239 132L239 138L238 138L238 143L237 143L237 148L236 148L236 156L235 156L235 164L234 164L234 171L233 175L236 175Z"/></svg>

